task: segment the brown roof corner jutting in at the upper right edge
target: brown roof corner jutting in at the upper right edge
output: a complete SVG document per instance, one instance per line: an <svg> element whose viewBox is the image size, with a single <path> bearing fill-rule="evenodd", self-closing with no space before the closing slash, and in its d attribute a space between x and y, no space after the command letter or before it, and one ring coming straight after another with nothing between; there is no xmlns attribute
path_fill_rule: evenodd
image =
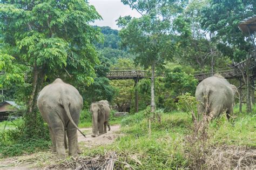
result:
<svg viewBox="0 0 256 170"><path fill-rule="evenodd" d="M256 15L253 15L249 18L245 18L240 24L238 25L240 30L247 35L249 34L248 29L250 30L250 33L256 31Z"/></svg>

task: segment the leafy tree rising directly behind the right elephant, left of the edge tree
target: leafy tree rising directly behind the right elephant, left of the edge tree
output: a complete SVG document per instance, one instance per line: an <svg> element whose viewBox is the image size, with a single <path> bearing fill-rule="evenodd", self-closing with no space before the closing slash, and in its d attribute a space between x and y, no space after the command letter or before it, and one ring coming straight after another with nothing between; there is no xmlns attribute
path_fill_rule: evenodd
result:
<svg viewBox="0 0 256 170"><path fill-rule="evenodd" d="M216 48L214 34L203 30L200 25L200 10L206 1L193 1L184 12L174 19L174 30L178 33L177 44L179 52L177 60L180 64L192 65L197 70L210 70L214 67L225 67L223 55ZM221 61L221 62L220 62Z"/></svg>

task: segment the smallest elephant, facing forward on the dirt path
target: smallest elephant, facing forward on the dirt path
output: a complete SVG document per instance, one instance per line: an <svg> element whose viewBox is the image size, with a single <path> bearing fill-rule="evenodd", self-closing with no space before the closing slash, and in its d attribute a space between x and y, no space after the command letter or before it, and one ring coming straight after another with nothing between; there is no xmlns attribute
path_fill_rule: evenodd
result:
<svg viewBox="0 0 256 170"><path fill-rule="evenodd" d="M107 100L100 100L92 103L90 106L90 112L92 113L92 137L96 137L97 134L102 135L107 133L106 126L110 131L110 107Z"/></svg>

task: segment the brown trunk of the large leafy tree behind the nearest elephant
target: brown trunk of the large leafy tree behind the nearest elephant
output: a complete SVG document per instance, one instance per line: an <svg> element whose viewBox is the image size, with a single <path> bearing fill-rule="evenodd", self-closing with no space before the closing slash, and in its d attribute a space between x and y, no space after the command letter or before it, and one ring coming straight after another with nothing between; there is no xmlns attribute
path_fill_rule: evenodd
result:
<svg viewBox="0 0 256 170"><path fill-rule="evenodd" d="M29 98L29 102L28 102L28 112L31 113L32 112L32 108L33 108L33 101L35 98L35 92L37 89L37 79L38 79L38 70L37 70L37 65L35 62L34 68L33 68L33 80L32 80L32 92Z"/></svg>

